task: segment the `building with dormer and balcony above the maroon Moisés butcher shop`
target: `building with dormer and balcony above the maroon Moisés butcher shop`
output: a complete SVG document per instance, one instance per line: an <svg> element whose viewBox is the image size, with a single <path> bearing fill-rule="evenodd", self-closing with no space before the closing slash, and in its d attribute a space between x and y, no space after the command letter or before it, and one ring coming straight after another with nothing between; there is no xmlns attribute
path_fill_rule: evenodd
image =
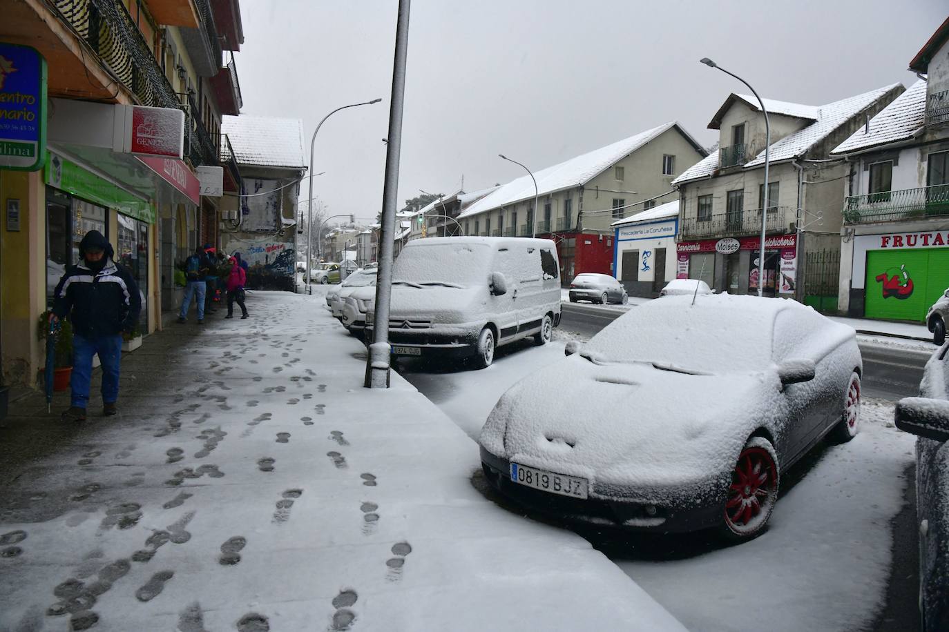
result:
<svg viewBox="0 0 949 632"><path fill-rule="evenodd" d="M681 198L677 276L730 294L756 294L762 282L766 296L834 311L836 266L828 279L814 275L810 283L806 269L808 262L817 270L818 260L839 257L840 182L847 166L829 153L902 89L889 85L821 106L764 99L771 126L767 199L764 114L754 97L725 99L709 123L719 131L718 149L675 181ZM762 221L768 237L759 280Z"/></svg>

